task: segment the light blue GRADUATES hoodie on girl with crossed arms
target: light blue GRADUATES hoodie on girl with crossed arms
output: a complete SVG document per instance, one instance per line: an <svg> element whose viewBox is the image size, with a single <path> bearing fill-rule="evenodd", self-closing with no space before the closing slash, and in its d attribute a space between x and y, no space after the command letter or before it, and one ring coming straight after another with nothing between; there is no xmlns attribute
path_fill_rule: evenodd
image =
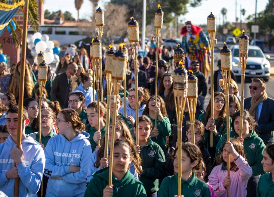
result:
<svg viewBox="0 0 274 197"><path fill-rule="evenodd" d="M46 196L84 196L86 176L91 156L89 134L85 131L72 141L64 135L52 137L45 148L46 166L44 175L48 179ZM71 173L69 166L79 166L80 171ZM59 179L51 179L59 177Z"/></svg>

